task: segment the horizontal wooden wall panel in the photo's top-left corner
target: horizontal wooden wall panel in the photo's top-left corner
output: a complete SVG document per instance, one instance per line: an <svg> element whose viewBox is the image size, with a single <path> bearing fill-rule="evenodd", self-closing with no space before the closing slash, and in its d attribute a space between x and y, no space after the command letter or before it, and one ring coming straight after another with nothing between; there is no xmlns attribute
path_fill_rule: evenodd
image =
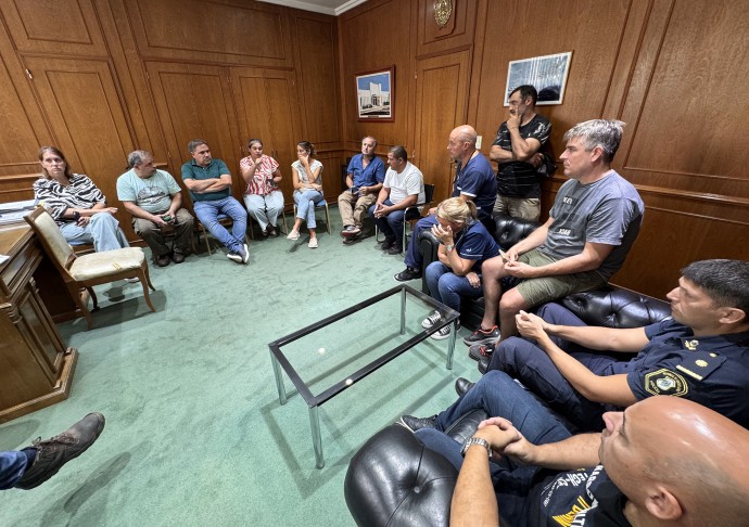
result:
<svg viewBox="0 0 749 527"><path fill-rule="evenodd" d="M91 0L7 0L0 12L22 52L106 56Z"/></svg>

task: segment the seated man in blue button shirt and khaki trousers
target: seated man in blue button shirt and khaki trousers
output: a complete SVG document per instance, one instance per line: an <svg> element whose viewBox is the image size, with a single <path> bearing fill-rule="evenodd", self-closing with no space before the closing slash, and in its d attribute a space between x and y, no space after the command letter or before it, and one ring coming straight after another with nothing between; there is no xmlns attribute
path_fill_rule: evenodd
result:
<svg viewBox="0 0 749 527"><path fill-rule="evenodd" d="M347 190L338 196L338 209L343 220L344 244L356 241L361 233L361 221L367 209L377 200L382 182L385 180L385 164L377 155L377 139L367 136L361 140L361 153L348 163L346 173Z"/></svg>

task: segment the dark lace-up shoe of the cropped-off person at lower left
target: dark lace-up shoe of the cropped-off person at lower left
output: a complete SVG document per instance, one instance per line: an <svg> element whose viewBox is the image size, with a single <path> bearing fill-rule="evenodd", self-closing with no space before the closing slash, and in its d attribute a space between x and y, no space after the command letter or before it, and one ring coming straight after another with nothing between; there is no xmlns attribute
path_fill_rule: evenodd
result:
<svg viewBox="0 0 749 527"><path fill-rule="evenodd" d="M18 489L33 489L54 476L62 465L77 458L97 440L104 429L104 416L101 413L89 413L60 435L46 441L38 437L29 448L37 450L34 463L26 471Z"/></svg>

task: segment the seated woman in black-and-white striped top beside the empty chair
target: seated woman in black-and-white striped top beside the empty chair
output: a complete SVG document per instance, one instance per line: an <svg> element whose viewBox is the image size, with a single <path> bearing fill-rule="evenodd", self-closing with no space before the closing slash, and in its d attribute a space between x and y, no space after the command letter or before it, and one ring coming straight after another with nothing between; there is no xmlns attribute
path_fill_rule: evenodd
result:
<svg viewBox="0 0 749 527"><path fill-rule="evenodd" d="M54 218L71 245L93 244L97 252L129 247L104 194L82 173L73 173L62 152L54 146L39 149L41 177L34 182L34 195Z"/></svg>

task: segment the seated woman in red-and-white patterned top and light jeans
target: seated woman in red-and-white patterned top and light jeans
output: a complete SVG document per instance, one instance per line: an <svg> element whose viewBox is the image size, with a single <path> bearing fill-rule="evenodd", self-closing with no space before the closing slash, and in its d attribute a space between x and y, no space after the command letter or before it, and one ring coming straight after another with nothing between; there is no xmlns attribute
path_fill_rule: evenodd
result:
<svg viewBox="0 0 749 527"><path fill-rule="evenodd" d="M244 191L244 205L247 213L261 226L263 236L278 236L278 216L283 210L283 194L278 190L281 171L278 162L263 155L263 141L251 139L247 142L250 155L239 163L239 169L247 183Z"/></svg>

